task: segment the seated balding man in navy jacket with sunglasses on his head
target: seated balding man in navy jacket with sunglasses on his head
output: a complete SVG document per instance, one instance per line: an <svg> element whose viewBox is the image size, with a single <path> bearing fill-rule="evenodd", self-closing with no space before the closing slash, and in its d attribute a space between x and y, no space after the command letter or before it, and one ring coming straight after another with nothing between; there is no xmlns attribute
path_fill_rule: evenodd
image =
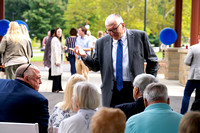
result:
<svg viewBox="0 0 200 133"><path fill-rule="evenodd" d="M24 64L17 68L15 80L0 79L0 122L38 123L47 133L48 100L38 92L42 83L37 67Z"/></svg>

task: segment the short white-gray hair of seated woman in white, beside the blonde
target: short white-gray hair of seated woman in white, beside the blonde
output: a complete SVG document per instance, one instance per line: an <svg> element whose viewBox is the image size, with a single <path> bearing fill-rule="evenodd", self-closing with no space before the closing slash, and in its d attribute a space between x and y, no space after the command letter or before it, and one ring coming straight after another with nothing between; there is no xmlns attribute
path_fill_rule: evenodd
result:
<svg viewBox="0 0 200 133"><path fill-rule="evenodd" d="M96 109L100 105L100 95L97 88L87 81L75 84L73 98L80 109Z"/></svg>

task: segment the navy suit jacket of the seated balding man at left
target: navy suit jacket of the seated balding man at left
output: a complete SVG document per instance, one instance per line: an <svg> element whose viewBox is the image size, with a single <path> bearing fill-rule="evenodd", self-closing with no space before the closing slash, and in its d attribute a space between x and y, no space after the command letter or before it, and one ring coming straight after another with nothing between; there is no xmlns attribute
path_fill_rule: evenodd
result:
<svg viewBox="0 0 200 133"><path fill-rule="evenodd" d="M25 82L0 79L0 122L38 123L47 133L48 100Z"/></svg>

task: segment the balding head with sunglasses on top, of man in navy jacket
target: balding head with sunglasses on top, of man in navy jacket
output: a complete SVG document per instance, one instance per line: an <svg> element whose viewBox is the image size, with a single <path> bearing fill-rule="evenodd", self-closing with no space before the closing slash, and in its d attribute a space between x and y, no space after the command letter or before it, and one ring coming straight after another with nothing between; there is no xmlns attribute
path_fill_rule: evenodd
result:
<svg viewBox="0 0 200 133"><path fill-rule="evenodd" d="M15 77L28 83L36 91L39 90L39 85L42 83L39 69L31 64L24 64L18 67Z"/></svg>

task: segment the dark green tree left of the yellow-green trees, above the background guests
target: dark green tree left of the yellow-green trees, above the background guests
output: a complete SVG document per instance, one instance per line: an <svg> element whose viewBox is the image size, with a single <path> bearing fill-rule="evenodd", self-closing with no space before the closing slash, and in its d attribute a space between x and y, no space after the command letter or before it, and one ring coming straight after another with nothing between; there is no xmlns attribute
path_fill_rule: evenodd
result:
<svg viewBox="0 0 200 133"><path fill-rule="evenodd" d="M64 6L61 0L32 0L23 17L28 20L31 37L43 39L51 29L64 29Z"/></svg>

